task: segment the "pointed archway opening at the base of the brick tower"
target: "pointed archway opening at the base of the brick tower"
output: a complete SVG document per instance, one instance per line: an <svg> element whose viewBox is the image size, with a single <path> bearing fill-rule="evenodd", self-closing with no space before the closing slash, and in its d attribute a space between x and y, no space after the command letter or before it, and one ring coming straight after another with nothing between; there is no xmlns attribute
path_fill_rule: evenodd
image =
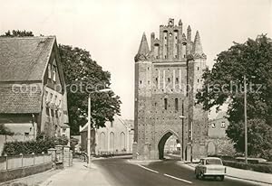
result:
<svg viewBox="0 0 272 186"><path fill-rule="evenodd" d="M177 135L171 132L166 133L160 138L158 144L159 158L160 160L166 159L166 156L170 159L179 159L180 153L180 140Z"/></svg>

